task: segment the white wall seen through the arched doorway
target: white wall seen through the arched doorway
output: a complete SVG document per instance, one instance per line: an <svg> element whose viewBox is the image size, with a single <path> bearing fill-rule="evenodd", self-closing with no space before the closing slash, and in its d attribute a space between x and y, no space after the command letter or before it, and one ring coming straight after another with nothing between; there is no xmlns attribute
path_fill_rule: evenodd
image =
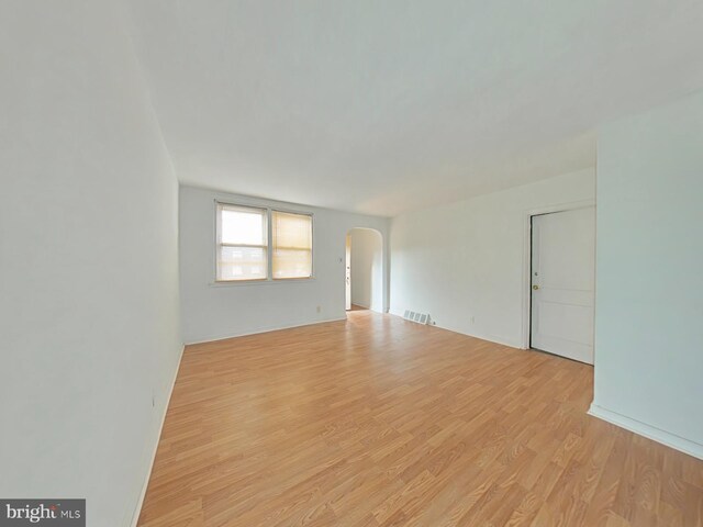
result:
<svg viewBox="0 0 703 527"><path fill-rule="evenodd" d="M369 228L353 228L352 303L383 312L383 240Z"/></svg>

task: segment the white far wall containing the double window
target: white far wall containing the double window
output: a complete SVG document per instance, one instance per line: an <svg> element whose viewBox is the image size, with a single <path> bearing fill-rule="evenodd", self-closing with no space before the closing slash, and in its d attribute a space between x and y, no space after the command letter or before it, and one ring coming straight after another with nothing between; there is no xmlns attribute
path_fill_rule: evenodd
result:
<svg viewBox="0 0 703 527"><path fill-rule="evenodd" d="M215 200L313 213L314 279L214 283ZM344 318L347 232L353 227L376 228L387 239L388 223L384 217L181 187L183 339L198 343Z"/></svg>

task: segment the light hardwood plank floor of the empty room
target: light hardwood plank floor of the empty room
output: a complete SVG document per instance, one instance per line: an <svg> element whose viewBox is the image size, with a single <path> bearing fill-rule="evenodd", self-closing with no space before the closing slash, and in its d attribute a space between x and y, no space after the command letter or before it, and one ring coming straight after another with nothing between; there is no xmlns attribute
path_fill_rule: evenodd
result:
<svg viewBox="0 0 703 527"><path fill-rule="evenodd" d="M140 525L703 525L703 462L585 415L592 377L369 311L189 346Z"/></svg>

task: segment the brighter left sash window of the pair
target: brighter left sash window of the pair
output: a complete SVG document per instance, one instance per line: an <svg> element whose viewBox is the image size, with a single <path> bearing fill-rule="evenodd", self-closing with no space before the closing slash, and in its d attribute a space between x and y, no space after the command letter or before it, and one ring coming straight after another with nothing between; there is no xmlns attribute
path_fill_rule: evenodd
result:
<svg viewBox="0 0 703 527"><path fill-rule="evenodd" d="M266 280L266 209L217 203L217 280Z"/></svg>

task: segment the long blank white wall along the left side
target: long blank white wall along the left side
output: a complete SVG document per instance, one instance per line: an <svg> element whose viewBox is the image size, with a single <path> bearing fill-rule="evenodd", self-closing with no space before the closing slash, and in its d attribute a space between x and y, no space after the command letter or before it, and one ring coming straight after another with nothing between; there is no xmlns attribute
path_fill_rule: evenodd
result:
<svg viewBox="0 0 703 527"><path fill-rule="evenodd" d="M86 497L96 527L130 525L182 349L178 188L125 24L0 7L0 496Z"/></svg>

